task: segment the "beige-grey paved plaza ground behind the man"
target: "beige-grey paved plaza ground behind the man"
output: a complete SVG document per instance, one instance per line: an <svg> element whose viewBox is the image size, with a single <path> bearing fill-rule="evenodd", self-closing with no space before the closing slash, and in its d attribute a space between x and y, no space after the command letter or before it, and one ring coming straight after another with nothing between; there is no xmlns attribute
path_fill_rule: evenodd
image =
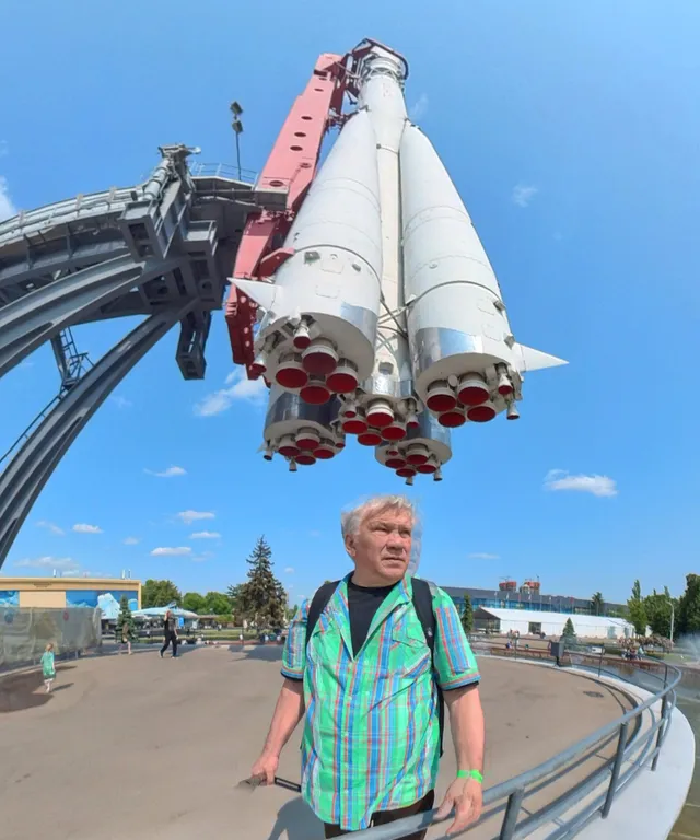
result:
<svg viewBox="0 0 700 840"><path fill-rule="evenodd" d="M221 831L318 840L320 827L296 794L235 789L267 731L279 656L271 646L231 653L185 645L177 661L153 650L82 660L59 667L50 696L38 674L0 679L3 840L191 840ZM623 695L585 677L480 662L489 785L629 708ZM454 773L445 744L440 791ZM294 781L298 745L295 736L280 767ZM482 836L486 828L468 835Z"/></svg>

